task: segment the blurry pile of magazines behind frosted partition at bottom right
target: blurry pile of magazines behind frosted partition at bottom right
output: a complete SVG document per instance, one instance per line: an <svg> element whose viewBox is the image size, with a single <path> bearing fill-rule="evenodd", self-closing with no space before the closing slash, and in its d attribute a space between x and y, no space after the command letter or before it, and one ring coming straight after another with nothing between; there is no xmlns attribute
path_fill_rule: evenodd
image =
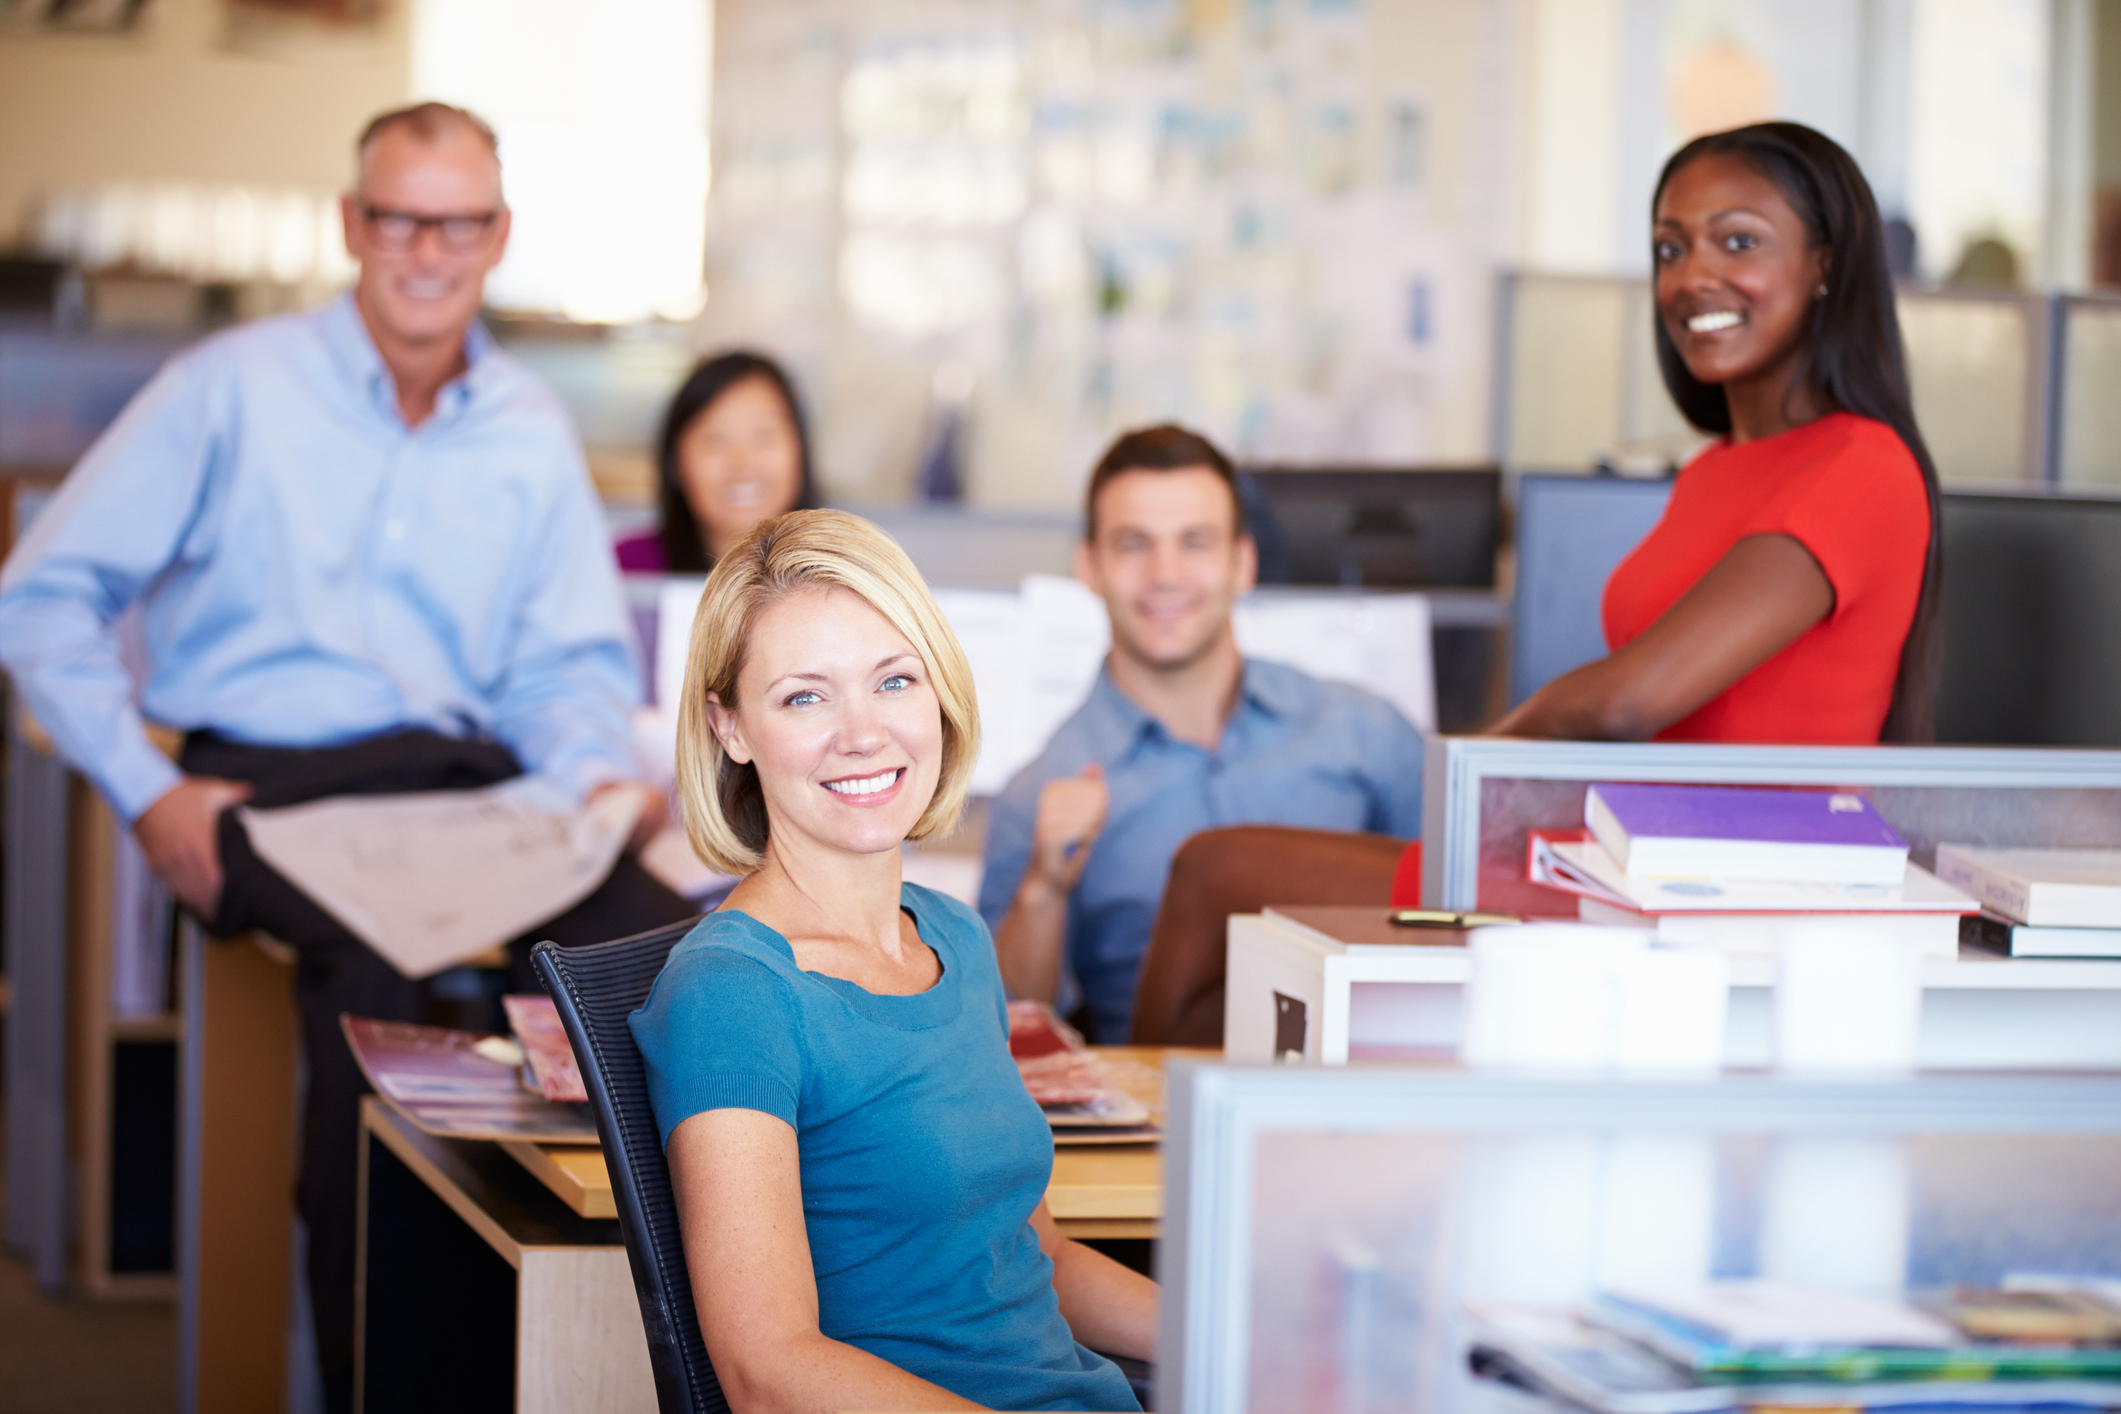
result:
<svg viewBox="0 0 2121 1414"><path fill-rule="evenodd" d="M2102 1287L1606 1291L1580 1310L1474 1310L1472 1367L1601 1414L2102 1410L2121 1406L2121 1306Z"/></svg>

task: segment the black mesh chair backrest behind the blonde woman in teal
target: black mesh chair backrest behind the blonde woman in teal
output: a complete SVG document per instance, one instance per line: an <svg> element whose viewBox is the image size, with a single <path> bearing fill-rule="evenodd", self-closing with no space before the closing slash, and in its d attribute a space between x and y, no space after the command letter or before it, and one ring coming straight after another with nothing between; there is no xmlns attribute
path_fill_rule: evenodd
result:
<svg viewBox="0 0 2121 1414"><path fill-rule="evenodd" d="M611 1170L619 1232L626 1234L626 1259L634 1268L662 1414L721 1414L730 1408L691 1308L670 1166L649 1109L647 1066L626 1026L626 1015L655 986L670 948L691 929L694 922L679 922L594 948L539 943L530 950L530 965L551 992L566 1039L575 1045L590 1109L596 1111L596 1134L604 1141L604 1166Z"/></svg>

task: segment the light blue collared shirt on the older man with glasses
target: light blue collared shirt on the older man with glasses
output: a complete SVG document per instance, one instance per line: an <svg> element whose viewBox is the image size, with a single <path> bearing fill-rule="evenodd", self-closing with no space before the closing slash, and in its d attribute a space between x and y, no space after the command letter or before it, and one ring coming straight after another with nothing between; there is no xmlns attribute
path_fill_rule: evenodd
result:
<svg viewBox="0 0 2121 1414"><path fill-rule="evenodd" d="M484 329L464 354L407 428L350 295L227 331L32 522L0 661L123 818L180 778L142 712L259 746L492 736L575 795L636 774L632 628L573 424Z"/></svg>

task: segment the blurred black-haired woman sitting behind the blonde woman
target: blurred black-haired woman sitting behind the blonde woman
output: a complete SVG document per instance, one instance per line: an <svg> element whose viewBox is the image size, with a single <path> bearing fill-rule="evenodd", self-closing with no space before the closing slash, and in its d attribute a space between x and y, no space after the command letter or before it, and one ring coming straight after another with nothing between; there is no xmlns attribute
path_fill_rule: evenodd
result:
<svg viewBox="0 0 2121 1414"><path fill-rule="evenodd" d="M817 505L795 386L772 358L717 354L670 399L655 447L662 528L619 541L630 575L706 575L759 522Z"/></svg>

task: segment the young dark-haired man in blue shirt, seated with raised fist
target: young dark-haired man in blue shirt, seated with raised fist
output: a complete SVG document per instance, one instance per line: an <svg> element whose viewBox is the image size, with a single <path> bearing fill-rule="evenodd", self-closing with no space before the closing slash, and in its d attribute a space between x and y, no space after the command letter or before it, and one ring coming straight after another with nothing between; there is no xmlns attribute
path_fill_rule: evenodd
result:
<svg viewBox="0 0 2121 1414"><path fill-rule="evenodd" d="M1075 577L1105 600L1090 697L1003 786L980 914L1014 996L1126 1041L1171 856L1217 825L1421 833L1421 736L1357 687L1245 659L1230 625L1258 553L1228 458L1177 426L1090 473Z"/></svg>

